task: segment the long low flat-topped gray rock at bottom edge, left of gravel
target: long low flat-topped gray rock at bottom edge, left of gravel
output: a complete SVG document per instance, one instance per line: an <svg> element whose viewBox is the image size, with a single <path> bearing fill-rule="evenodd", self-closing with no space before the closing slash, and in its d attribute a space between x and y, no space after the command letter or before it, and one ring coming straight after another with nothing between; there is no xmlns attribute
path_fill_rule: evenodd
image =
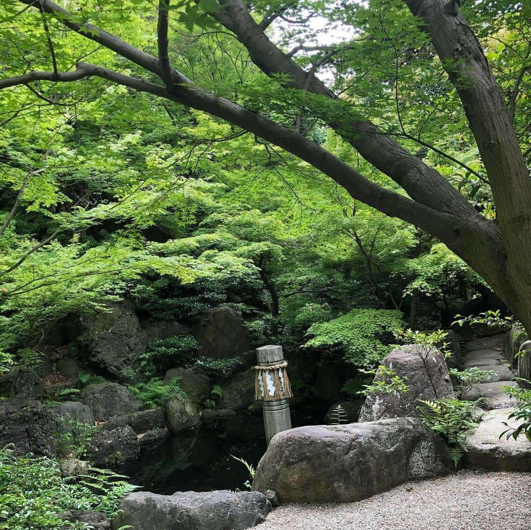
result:
<svg viewBox="0 0 531 530"><path fill-rule="evenodd" d="M138 492L128 495L120 508L123 512L113 529L131 525L135 530L243 530L267 516L265 496L250 491Z"/></svg>

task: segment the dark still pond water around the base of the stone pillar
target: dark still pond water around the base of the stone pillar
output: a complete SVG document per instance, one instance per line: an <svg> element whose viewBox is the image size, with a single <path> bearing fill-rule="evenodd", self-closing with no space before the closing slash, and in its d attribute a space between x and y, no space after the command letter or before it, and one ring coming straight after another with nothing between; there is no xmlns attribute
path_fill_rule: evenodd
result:
<svg viewBox="0 0 531 530"><path fill-rule="evenodd" d="M326 410L294 411L293 426L321 423ZM249 473L231 455L256 467L265 448L262 414L244 412L144 448L140 457L121 471L141 490L154 493L245 489Z"/></svg>

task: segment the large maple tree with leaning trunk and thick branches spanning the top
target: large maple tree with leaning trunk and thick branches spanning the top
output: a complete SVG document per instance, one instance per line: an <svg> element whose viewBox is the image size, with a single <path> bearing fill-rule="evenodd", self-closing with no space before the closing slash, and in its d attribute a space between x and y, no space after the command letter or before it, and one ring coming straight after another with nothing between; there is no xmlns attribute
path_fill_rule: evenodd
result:
<svg viewBox="0 0 531 530"><path fill-rule="evenodd" d="M407 0L405 3L414 18L408 18L397 3L389 2L386 9L395 13L395 18L386 20L386 23L392 29L393 24L408 27L415 22L419 30L410 30L408 42L413 50L411 54L418 55L418 50L424 49L427 55L434 57L430 51L433 49L438 55L475 138L485 175L476 173L492 190L495 220L485 218L444 175L399 144L381 126L381 118L380 126L372 123L364 116L363 108L354 105L348 98L338 97L316 76L317 69L337 55L338 49L312 56L304 69L301 66L303 61L295 58L304 45L282 51L273 44L267 33L269 25L279 20L293 22L290 14L295 12L302 16L308 10L311 12L311 3L307 7L297 3L272 6L259 3L251 12L251 8L241 0L224 0L219 4L179 3L176 6L171 5L169 0L160 0L157 51L150 54L145 51L149 50L145 42L142 47L130 44L141 42L140 31L137 31L140 27L138 20L149 28L155 15L148 14L151 13L150 4L142 0L127 3L116 0L80 2L73 6L75 9L71 12L50 0L40 0L37 4L33 0L8 0L4 3L6 20L10 24L19 17L30 21L26 30L35 30L35 38L46 45L47 60L52 69L33 69L33 62L42 64L45 60L44 48L41 48L36 52L37 60L30 60L23 73L4 77L0 81L0 89L29 86L41 99L54 101L53 97L45 96L39 89L45 86L55 88L62 83L77 86L74 82L94 77L227 120L242 131L250 132L322 171L353 198L439 238L483 277L531 332L531 282L528 272L531 258L531 182L513 126L516 100L529 68L525 64L520 68L506 103L482 45L467 24L456 0ZM174 10L174 7L177 9ZM345 3L341 9L348 15L351 12L354 14L358 8ZM525 19L529 11L521 4L512 5L510 2L500 2L495 9L501 10L498 13L507 11L521 19ZM260 15L262 20L256 22ZM128 23L135 16L136 25L131 23L129 27ZM208 17L217 24L212 31L236 37L254 65L267 77L250 82L240 80L242 86L239 92L227 91L220 83L218 86L200 86L172 65L169 45L172 36L168 35L168 28L178 19L191 29L193 23L204 25ZM102 27L89 20L99 20ZM106 31L106 23L109 29L113 27L116 30L115 33ZM70 31L60 33L54 24ZM128 28L133 28L128 36L130 42L118 36L126 34ZM382 33L374 37L364 34L361 28L362 33L348 42L346 48L355 48L356 40L386 42L386 29L383 27ZM16 31L10 26L4 38L8 38L10 31L15 36ZM426 41L426 33L431 44ZM98 46L87 48L81 44L83 39L79 36ZM59 39L61 45L57 46ZM73 44L67 48L65 43L69 39ZM84 50L81 55L92 55L101 62L84 62L76 49L79 46ZM101 49L107 55L102 54ZM109 51L116 56L109 56ZM409 53L408 49L405 52ZM403 55L404 52L400 53ZM398 51L396 55L399 55ZM73 61L76 64L71 69ZM189 70L193 74L193 68ZM226 92L230 92L233 99L220 95ZM252 98L245 95L250 92L253 93ZM396 92L398 95L398 90ZM296 111L295 124L282 116L273 119L278 116L275 94L280 94L284 102L292 104ZM238 98L244 104L239 104ZM397 106L398 103L397 97ZM311 126L303 128L304 121L308 119L326 124L335 131L361 157L389 178L387 185L378 179L364 177L353 164L310 140L304 133Z"/></svg>

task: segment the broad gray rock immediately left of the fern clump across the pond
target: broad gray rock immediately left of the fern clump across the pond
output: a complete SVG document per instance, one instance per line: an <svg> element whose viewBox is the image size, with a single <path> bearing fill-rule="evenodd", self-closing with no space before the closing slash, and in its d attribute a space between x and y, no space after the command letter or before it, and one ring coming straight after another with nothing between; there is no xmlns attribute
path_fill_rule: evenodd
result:
<svg viewBox="0 0 531 530"><path fill-rule="evenodd" d="M116 383L85 386L81 391L81 397L98 421L138 411L142 406L129 389Z"/></svg>

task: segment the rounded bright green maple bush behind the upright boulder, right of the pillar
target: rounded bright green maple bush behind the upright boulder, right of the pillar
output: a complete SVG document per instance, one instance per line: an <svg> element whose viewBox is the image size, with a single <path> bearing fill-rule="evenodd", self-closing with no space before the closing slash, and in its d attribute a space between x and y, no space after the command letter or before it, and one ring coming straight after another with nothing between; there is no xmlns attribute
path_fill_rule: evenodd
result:
<svg viewBox="0 0 531 530"><path fill-rule="evenodd" d="M341 352L347 362L370 366L386 356L393 329L401 325L400 311L353 309L329 322L310 326L307 334L313 335L313 338L304 346L331 353Z"/></svg>

